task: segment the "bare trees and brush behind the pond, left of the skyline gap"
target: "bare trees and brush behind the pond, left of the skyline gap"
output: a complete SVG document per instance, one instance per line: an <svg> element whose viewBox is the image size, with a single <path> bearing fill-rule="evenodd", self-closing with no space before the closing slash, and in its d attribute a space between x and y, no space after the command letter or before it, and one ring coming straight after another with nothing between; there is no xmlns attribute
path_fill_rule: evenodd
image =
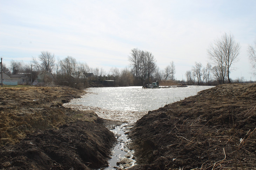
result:
<svg viewBox="0 0 256 170"><path fill-rule="evenodd" d="M100 86L103 80L113 80L115 86L141 86L143 81L174 80L175 66L171 62L163 71L156 65L154 55L149 51L132 49L128 56L130 66L119 69L110 68L109 73L103 68L89 67L86 62L78 62L72 56L60 60L48 51L42 51L37 58L33 57L31 64L23 61L11 60L9 67L3 64L3 72L8 75L17 73L31 73L32 81L39 74L44 74L44 83L84 88L88 86ZM54 79L50 79L51 76ZM89 84L91 83L91 84Z"/></svg>

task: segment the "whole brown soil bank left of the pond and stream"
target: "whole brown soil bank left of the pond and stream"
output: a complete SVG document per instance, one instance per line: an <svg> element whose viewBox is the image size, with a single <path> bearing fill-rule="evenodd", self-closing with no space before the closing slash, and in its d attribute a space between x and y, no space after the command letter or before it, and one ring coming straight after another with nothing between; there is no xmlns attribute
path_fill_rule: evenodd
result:
<svg viewBox="0 0 256 170"><path fill-rule="evenodd" d="M84 93L69 87L1 88L0 169L106 166L116 141L108 122L93 111L62 106Z"/></svg>

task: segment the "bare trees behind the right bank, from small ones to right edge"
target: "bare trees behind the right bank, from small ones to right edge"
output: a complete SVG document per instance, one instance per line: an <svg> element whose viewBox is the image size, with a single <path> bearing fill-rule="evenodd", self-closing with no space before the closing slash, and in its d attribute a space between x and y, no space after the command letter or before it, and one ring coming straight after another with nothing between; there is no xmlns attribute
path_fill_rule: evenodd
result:
<svg viewBox="0 0 256 170"><path fill-rule="evenodd" d="M255 47L254 47L255 46ZM256 41L254 46L248 46L248 56L252 66L252 74L256 75ZM230 79L233 63L239 60L241 46L232 34L224 33L221 38L214 40L207 50L208 63L203 67L201 62L195 62L185 75L188 84L223 84L240 83L244 77Z"/></svg>

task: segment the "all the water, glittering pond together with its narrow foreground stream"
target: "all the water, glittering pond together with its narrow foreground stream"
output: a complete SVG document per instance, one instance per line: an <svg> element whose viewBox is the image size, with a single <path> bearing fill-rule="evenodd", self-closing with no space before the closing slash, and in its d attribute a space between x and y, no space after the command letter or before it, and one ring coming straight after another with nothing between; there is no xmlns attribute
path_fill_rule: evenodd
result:
<svg viewBox="0 0 256 170"><path fill-rule="evenodd" d="M129 139L125 132L133 123L150 110L166 104L197 95L204 89L214 86L188 86L172 88L142 89L138 87L98 87L86 89L87 94L73 99L64 106L78 110L94 110L99 117L125 122L111 131L116 135L117 144L113 149L109 167L102 170L115 170L136 164L133 151L127 147ZM126 162L124 164L120 162Z"/></svg>

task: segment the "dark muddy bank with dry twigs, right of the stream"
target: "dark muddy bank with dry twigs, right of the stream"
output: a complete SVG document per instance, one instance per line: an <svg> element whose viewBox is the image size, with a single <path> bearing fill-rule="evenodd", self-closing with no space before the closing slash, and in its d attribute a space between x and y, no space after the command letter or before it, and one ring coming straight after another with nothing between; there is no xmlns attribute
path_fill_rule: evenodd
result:
<svg viewBox="0 0 256 170"><path fill-rule="evenodd" d="M255 128L255 83L200 91L136 122L132 170L255 169Z"/></svg>

